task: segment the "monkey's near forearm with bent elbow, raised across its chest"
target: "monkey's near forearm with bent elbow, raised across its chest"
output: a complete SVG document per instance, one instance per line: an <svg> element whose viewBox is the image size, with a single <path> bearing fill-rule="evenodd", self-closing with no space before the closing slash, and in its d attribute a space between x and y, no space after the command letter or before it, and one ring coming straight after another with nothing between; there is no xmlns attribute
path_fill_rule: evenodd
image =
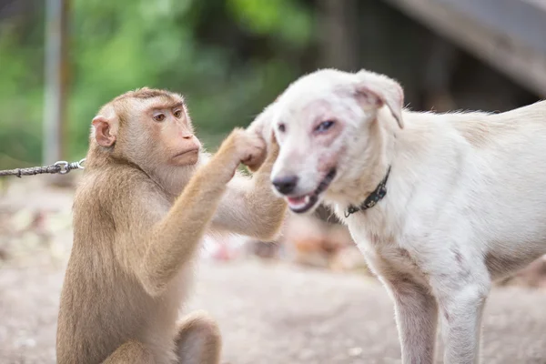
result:
<svg viewBox="0 0 546 364"><path fill-rule="evenodd" d="M227 137L217 154L197 169L174 205L158 221L142 221L157 217L157 212L151 211L157 207L151 204L153 201L147 204L146 197L132 197L140 206L133 209L133 216L128 219L134 223L125 227L125 236L131 238L125 244L116 244L121 249L117 256L124 261L132 254L132 260L126 260L126 267L136 273L148 294L159 295L193 258L227 182L240 163L235 139L233 134ZM124 245L128 247L123 248Z"/></svg>

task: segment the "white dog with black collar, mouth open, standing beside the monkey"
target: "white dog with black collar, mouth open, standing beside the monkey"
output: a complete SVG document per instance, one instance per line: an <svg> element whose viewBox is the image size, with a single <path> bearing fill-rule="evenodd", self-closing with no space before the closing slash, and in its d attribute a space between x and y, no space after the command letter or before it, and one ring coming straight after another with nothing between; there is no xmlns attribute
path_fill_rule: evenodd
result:
<svg viewBox="0 0 546 364"><path fill-rule="evenodd" d="M297 213L348 226L394 300L402 362L479 362L492 279L546 253L546 101L502 113L402 109L369 71L303 76L248 130L280 145L272 183ZM440 313L440 316L439 316Z"/></svg>

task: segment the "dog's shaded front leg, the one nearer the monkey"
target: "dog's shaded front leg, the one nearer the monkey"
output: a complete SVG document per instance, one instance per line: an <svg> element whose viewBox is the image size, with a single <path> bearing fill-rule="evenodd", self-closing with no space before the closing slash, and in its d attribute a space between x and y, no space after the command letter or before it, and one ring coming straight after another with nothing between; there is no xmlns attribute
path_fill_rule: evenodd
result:
<svg viewBox="0 0 546 364"><path fill-rule="evenodd" d="M432 364L435 359L438 308L426 288L408 278L384 280L394 299L402 364Z"/></svg>

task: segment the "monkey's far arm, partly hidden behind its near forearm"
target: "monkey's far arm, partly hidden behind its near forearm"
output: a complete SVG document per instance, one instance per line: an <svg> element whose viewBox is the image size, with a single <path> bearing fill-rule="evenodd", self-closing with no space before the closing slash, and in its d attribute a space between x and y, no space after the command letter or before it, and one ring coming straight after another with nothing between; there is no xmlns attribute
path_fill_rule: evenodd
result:
<svg viewBox="0 0 546 364"><path fill-rule="evenodd" d="M287 204L271 187L271 168L278 156L278 144L270 143L270 152L258 171L250 177L237 175L217 209L212 227L264 241L277 238L286 215Z"/></svg>

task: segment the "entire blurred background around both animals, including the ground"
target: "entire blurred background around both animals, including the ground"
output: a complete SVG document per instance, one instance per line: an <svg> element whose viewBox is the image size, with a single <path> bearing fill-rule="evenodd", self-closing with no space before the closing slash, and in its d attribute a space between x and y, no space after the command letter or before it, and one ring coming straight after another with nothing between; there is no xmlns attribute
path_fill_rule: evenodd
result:
<svg viewBox="0 0 546 364"><path fill-rule="evenodd" d="M212 151L321 67L387 74L414 110L505 111L546 96L544 35L543 0L0 0L0 169L84 157L98 108L142 86L186 96ZM55 361L79 175L0 178L2 363ZM218 318L227 360L399 362L392 304L325 208L203 256L189 307ZM495 288L486 362L546 363L545 276L539 259Z"/></svg>

